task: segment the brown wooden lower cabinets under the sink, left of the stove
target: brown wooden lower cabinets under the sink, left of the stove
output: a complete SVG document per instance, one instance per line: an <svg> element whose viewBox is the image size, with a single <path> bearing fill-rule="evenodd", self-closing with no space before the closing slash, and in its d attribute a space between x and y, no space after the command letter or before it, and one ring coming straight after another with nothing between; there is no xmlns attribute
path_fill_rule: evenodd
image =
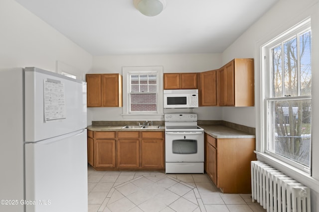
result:
<svg viewBox="0 0 319 212"><path fill-rule="evenodd" d="M164 170L164 132L88 130L88 163L96 170Z"/></svg>

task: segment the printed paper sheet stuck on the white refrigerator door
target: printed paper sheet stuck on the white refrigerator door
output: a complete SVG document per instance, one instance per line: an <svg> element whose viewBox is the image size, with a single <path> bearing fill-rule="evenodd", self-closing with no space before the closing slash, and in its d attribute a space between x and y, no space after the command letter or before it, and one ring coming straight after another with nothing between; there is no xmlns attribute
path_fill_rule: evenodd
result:
<svg viewBox="0 0 319 212"><path fill-rule="evenodd" d="M66 118L64 84L58 80L44 80L44 119L45 121Z"/></svg>

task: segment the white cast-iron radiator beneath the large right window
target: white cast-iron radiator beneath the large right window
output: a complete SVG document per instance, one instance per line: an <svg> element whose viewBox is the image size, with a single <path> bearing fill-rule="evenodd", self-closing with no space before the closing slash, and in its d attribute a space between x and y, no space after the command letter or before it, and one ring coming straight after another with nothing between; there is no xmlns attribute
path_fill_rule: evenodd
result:
<svg viewBox="0 0 319 212"><path fill-rule="evenodd" d="M310 189L261 161L251 161L252 200L267 212L311 212Z"/></svg>

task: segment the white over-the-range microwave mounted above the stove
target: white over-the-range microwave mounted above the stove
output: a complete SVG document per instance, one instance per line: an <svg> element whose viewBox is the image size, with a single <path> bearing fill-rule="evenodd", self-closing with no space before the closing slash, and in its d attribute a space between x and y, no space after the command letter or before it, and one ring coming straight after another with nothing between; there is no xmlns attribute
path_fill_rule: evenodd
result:
<svg viewBox="0 0 319 212"><path fill-rule="evenodd" d="M198 107L198 89L164 90L164 108Z"/></svg>

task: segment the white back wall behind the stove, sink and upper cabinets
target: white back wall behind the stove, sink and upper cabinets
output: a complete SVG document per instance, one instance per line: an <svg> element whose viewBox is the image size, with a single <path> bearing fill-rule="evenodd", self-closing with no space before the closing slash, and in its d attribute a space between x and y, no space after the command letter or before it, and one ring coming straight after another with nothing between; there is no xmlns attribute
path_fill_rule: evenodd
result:
<svg viewBox="0 0 319 212"><path fill-rule="evenodd" d="M219 69L222 66L221 54L180 54L180 55L127 55L96 56L90 73L121 73L122 67L162 66L168 72L201 72ZM193 109L169 109L164 113L194 112L200 120L221 120L222 108L199 107ZM88 124L91 121L124 121L122 108L88 108ZM156 119L154 119L155 121ZM160 120L160 119L159 119ZM163 119L161 119L163 120Z"/></svg>

